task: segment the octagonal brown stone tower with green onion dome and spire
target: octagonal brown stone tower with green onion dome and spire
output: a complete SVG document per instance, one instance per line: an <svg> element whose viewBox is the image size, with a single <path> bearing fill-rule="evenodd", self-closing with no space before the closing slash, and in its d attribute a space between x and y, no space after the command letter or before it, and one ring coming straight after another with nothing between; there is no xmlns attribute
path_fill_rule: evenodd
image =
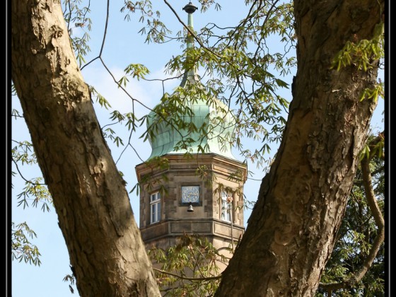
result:
<svg viewBox="0 0 396 297"><path fill-rule="evenodd" d="M183 10L192 28L192 13L197 7L190 2ZM187 37L187 51L192 46L191 37ZM185 71L180 87L188 83L198 83L194 69ZM183 98L183 105L192 111L185 119L195 127L208 127L219 117L223 119L212 125L211 136L175 129L165 120L159 123L154 112L148 116L148 127L157 123L155 135L149 138L152 152L146 162L136 165L141 185L140 230L146 248L155 245L165 250L175 245L180 235L190 233L203 235L221 249L234 245L245 231L243 185L247 168L233 156L231 145L222 141L233 133L234 116L221 101L214 102L216 106L209 106L202 98L188 94ZM187 137L194 141L188 148L180 148L179 141ZM207 149L202 152L202 147ZM164 158L167 165L153 166L151 161L158 158Z"/></svg>

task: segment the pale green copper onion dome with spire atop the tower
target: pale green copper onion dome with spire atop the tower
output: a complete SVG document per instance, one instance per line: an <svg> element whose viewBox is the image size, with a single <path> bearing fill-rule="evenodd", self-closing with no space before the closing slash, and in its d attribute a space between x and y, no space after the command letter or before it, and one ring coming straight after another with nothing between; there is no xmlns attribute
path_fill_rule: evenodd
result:
<svg viewBox="0 0 396 297"><path fill-rule="evenodd" d="M192 28L192 13L197 8L190 2L183 9L188 13L188 25ZM192 40L187 37L187 49L191 47ZM187 83L198 83L193 69L185 72L180 87L186 88ZM177 95L177 92L173 95ZM188 94L182 98L182 104L184 107L190 108L192 115L181 115L180 117L184 122L194 124L198 132L189 132L187 128L177 129L175 124L170 124L171 119L163 119L156 112L150 112L147 128L155 127L155 129L153 129L151 137L148 137L152 148L149 159L166 154L216 153L236 160L231 153L231 144L227 141L227 139L231 139L235 128L235 119L231 111L228 110L228 106L216 98L209 105L206 99L191 98ZM154 108L154 110L158 109ZM199 132L201 127L207 131L206 135ZM180 141L183 139L193 139L193 141L189 142L188 147L180 148Z"/></svg>

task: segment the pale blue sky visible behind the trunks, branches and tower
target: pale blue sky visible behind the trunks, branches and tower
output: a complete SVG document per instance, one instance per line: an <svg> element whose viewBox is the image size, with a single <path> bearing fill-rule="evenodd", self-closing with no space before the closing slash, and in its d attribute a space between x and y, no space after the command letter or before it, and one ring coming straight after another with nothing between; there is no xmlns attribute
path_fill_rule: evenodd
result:
<svg viewBox="0 0 396 297"><path fill-rule="evenodd" d="M163 1L156 2L158 10L161 10L161 16L163 21L172 28L173 32L176 33L182 28L181 24L178 23L173 12L170 11L168 6ZM180 18L187 23L187 13L182 11L182 7L188 3L188 1L168 1ZM197 1L192 1L194 5L197 5ZM235 24L240 18L243 18L248 8L245 7L245 1L219 1L221 3L222 10L215 11L211 8L205 13L197 11L194 13L194 29L199 30L206 23L215 22L219 26L226 27L226 25ZM238 2L232 3L231 2ZM103 0L91 1L91 11L93 13L93 31L91 35L91 50L87 61L93 59L98 55L99 48L103 40L103 20L105 18L105 7L106 2ZM137 23L136 20L130 22L123 21L124 16L120 13L120 3L110 3L110 23L107 28L107 40L103 51L103 59L106 66L111 69L112 73L120 78L123 73L123 69L130 63L144 64L151 70L151 74L148 78L165 78L164 66L169 59L176 54L180 54L182 49L180 43L177 41L168 42L162 45L156 45L153 43L144 43L145 36L140 35L138 31L141 28L141 23ZM139 13L132 15L133 18L138 19ZM276 45L274 45L276 47ZM127 98L120 89L118 89L112 82L112 78L105 71L103 65L98 60L95 60L92 64L87 66L82 71L83 77L87 83L92 84L97 90L110 101L112 108L120 110L121 112L128 112L132 110L131 100ZM286 81L291 81L291 76L286 78ZM165 83L165 91L171 92L180 81L170 81ZM155 106L162 95L162 86L159 82L145 82L145 81L131 81L127 90L132 93L134 98L139 98L148 107ZM291 100L291 94L289 90L284 91L284 97ZM21 110L19 107L18 100L12 98L13 108ZM383 110L383 100L380 100L380 104L373 117L373 122L376 127L382 127L381 122L382 116L381 111ZM96 108L98 119L100 124L104 126L110 123L108 111ZM145 115L148 113L143 107L135 106L135 111L138 115ZM128 137L129 133L126 129L118 128L117 132ZM141 130L143 132L143 130ZM12 135L13 139L18 141L30 140L29 133L24 123L19 120L18 122L12 121ZM139 139L140 134L136 134L132 139L132 144L136 151L139 152L140 158L146 160L151 153L149 144L144 143ZM111 145L110 145L111 146ZM251 148L260 148L260 141L257 143L252 142ZM274 148L273 153L276 151ZM112 154L117 161L120 157L123 148L117 148L111 146ZM235 153L238 156L238 153ZM127 190L131 190L136 183L136 174L134 167L141 163L139 157L136 156L132 149L128 149L126 153L120 158L117 166L124 173L124 179L128 182ZM245 195L249 200L257 199L258 189L260 187L260 180L264 177L262 168L257 169L254 164L248 164L249 170L254 171L255 175L252 179L249 179L245 184ZM36 177L40 175L40 170L36 167L23 168L23 174L25 177ZM40 296L40 297L64 297L64 296L77 296L78 293L72 294L69 291L68 284L62 281L66 274L70 274L69 269L69 255L66 250L64 238L57 225L57 215L54 209L50 212L43 213L40 208L29 207L22 209L22 207L16 206L16 194L21 192L23 187L23 180L21 178L13 178L14 190L12 191L12 221L21 223L26 221L30 228L37 233L37 238L33 239L32 242L38 246L42 254L40 267L35 267L30 264L23 262L12 263L12 295L13 297L25 297L25 296ZM132 209L134 211L135 219L139 223L139 199L135 193L130 194L130 200ZM250 211L245 212L245 225L248 219Z"/></svg>

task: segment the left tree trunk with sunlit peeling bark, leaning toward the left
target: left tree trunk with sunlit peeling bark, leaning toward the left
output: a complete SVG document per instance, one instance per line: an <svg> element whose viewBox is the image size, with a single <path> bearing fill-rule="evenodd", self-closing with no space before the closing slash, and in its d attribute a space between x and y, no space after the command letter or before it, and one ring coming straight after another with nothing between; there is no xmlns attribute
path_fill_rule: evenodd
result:
<svg viewBox="0 0 396 297"><path fill-rule="evenodd" d="M60 1L11 6L12 80L81 296L161 296Z"/></svg>

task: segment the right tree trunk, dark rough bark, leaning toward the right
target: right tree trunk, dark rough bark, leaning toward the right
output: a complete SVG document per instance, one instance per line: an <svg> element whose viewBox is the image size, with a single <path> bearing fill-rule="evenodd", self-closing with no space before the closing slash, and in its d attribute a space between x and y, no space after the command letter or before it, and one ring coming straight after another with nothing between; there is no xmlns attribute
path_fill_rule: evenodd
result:
<svg viewBox="0 0 396 297"><path fill-rule="evenodd" d="M289 118L216 296L315 294L376 105L359 101L376 69L330 66L347 40L371 39L382 9L383 1L294 1L298 71Z"/></svg>

